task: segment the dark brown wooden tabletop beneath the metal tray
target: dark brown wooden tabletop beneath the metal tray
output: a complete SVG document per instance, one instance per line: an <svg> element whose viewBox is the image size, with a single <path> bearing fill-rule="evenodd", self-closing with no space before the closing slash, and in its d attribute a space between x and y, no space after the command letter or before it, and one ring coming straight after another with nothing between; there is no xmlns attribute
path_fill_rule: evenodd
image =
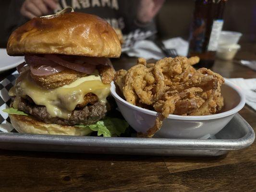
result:
<svg viewBox="0 0 256 192"><path fill-rule="evenodd" d="M256 60L247 44L237 59ZM122 63L134 59L122 58ZM117 65L118 61L115 61ZM232 61L216 60L224 77L256 78ZM3 75L2 75L3 77ZM239 112L256 131L256 112ZM219 157L117 156L0 150L0 192L256 191L256 144Z"/></svg>

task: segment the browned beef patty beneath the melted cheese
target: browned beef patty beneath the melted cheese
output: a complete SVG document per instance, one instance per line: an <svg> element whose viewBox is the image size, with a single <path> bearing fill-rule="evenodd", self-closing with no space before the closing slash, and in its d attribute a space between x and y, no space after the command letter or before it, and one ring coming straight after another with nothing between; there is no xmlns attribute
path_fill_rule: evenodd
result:
<svg viewBox="0 0 256 192"><path fill-rule="evenodd" d="M104 118L107 112L106 104L96 102L93 105L87 105L84 108L75 109L72 111L68 119L62 119L59 117L51 117L45 106L36 105L23 98L18 104L18 109L45 123L70 126L94 124L98 120Z"/></svg>

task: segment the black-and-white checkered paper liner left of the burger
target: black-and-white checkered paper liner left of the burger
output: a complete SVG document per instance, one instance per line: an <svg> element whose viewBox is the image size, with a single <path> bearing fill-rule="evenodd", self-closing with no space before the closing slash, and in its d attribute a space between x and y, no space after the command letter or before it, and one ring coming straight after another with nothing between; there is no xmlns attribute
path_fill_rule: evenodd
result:
<svg viewBox="0 0 256 192"><path fill-rule="evenodd" d="M11 97L8 95L8 92L15 84L18 76L19 73L15 71L0 82L0 132L17 132L12 127L8 113L2 110L10 107Z"/></svg>

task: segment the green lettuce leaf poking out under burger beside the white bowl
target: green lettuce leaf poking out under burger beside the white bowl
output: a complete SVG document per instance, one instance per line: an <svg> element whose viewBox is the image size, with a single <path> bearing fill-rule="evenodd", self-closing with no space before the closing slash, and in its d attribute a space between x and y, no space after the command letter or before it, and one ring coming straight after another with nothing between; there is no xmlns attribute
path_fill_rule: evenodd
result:
<svg viewBox="0 0 256 192"><path fill-rule="evenodd" d="M125 120L107 117L92 125L76 125L75 127L89 128L92 131L98 132L98 136L113 137L124 133L129 124Z"/></svg>

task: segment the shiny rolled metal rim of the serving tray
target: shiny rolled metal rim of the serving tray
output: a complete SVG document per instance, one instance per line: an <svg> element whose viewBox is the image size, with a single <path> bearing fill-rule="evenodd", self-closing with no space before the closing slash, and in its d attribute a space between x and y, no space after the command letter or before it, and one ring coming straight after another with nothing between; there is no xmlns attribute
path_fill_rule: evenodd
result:
<svg viewBox="0 0 256 192"><path fill-rule="evenodd" d="M0 143L130 149L238 150L252 144L255 133L240 115L237 114L237 118L243 120L246 125L245 134L239 139L161 139L43 134L35 136L34 134L1 132Z"/></svg>

